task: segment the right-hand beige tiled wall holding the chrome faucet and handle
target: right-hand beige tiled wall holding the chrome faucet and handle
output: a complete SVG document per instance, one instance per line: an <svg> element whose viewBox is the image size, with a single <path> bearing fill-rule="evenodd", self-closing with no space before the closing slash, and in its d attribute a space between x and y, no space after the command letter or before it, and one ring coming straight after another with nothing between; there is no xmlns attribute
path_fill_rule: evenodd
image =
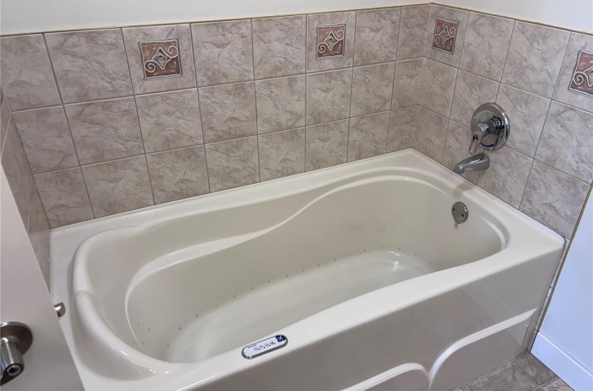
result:
<svg viewBox="0 0 593 391"><path fill-rule="evenodd" d="M436 5L428 20L416 123L390 150L414 147L452 169L468 156L472 113L496 102L511 137L486 152L488 170L465 177L571 237L593 180L593 36ZM442 20L453 29L435 29Z"/></svg>

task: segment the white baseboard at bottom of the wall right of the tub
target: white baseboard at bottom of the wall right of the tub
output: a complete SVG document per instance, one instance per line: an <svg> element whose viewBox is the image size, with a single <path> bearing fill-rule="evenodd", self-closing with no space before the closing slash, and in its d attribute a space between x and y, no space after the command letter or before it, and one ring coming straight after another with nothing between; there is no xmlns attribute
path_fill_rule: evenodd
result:
<svg viewBox="0 0 593 391"><path fill-rule="evenodd" d="M593 391L593 374L543 334L537 333L531 353L575 391Z"/></svg>

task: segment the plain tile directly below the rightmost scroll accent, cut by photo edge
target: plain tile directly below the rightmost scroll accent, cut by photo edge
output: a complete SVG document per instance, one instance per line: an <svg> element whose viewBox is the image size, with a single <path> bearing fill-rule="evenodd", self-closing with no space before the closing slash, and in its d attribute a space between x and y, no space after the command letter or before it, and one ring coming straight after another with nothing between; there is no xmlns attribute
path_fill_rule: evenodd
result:
<svg viewBox="0 0 593 391"><path fill-rule="evenodd" d="M553 101L535 158L590 184L593 181L593 114Z"/></svg>

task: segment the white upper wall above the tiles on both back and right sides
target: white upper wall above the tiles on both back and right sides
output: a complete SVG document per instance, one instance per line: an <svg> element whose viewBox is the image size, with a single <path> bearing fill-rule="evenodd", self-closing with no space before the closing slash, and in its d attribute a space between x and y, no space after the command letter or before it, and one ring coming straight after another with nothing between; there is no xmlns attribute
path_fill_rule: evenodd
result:
<svg viewBox="0 0 593 391"><path fill-rule="evenodd" d="M2 0L0 34L220 20L423 0ZM593 32L592 0L442 0L450 6Z"/></svg>

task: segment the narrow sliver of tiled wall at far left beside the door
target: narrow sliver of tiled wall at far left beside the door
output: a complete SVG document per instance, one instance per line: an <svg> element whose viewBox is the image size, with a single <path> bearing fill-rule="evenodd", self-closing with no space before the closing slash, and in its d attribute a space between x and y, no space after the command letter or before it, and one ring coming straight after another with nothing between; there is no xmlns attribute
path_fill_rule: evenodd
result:
<svg viewBox="0 0 593 391"><path fill-rule="evenodd" d="M47 287L50 286L50 224L25 156L8 99L0 89L0 161L35 251Z"/></svg>

